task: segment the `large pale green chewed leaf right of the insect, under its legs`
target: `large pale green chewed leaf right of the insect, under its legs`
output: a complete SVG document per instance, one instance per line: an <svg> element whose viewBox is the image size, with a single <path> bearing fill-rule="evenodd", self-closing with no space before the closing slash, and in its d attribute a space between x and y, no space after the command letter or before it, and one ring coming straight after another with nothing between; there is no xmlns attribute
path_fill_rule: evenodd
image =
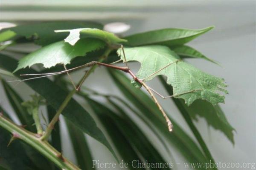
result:
<svg viewBox="0 0 256 170"><path fill-rule="evenodd" d="M168 47L151 45L124 50L126 61L141 63L137 78L142 80L145 78L143 81L149 81L157 75L165 75L167 84L172 84L174 87L174 97L183 98L186 104L190 105L196 99L207 100L213 105L219 102L224 103L225 97L219 94L219 92L227 94L227 90L224 89L227 86L224 84L224 79L209 75L189 63L179 61L177 54ZM120 55L125 61L122 53Z"/></svg>

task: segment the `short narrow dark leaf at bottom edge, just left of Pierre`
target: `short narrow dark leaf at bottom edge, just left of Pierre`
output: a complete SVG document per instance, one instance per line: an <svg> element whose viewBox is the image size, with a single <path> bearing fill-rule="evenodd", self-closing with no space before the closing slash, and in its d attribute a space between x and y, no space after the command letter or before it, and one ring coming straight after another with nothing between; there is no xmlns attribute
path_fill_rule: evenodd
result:
<svg viewBox="0 0 256 170"><path fill-rule="evenodd" d="M93 157L84 133L69 120L65 120L79 167L82 170L95 170L95 168L93 168Z"/></svg>

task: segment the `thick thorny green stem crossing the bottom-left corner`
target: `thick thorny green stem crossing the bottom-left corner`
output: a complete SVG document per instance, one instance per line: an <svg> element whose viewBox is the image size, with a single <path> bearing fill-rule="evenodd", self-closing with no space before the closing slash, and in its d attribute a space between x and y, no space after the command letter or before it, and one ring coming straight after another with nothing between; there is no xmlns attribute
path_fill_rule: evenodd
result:
<svg viewBox="0 0 256 170"><path fill-rule="evenodd" d="M0 127L12 133L13 139L20 139L34 147L62 170L80 170L79 167L76 167L76 165L64 158L62 154L55 150L47 141L41 141L40 138L37 137L37 134L17 126L11 120L5 118L2 113L0 113Z"/></svg>

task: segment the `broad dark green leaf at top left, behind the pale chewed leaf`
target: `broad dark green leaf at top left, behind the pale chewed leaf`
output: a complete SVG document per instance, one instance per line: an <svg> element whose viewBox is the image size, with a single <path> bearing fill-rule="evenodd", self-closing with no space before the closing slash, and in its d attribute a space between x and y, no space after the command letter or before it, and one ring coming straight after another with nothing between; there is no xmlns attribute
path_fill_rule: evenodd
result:
<svg viewBox="0 0 256 170"><path fill-rule="evenodd" d="M61 41L67 37L67 33L56 34L56 29L76 29L76 28L98 28L102 29L102 25L91 22L70 22L70 21L58 21L58 22L45 22L18 25L16 27L4 29L15 32L17 35L24 36L29 39L34 39L35 43L41 46ZM3 33L3 32L2 32ZM6 38L3 40L7 40Z"/></svg>

